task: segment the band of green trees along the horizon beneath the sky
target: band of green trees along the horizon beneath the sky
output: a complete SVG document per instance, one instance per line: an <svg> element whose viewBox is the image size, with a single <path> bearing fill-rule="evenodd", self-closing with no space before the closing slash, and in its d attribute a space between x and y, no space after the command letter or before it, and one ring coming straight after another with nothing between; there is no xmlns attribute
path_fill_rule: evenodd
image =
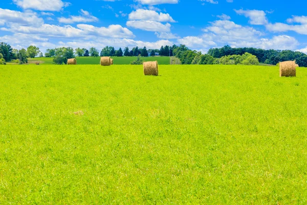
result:
<svg viewBox="0 0 307 205"><path fill-rule="evenodd" d="M251 55L249 55L251 54ZM185 45L161 46L160 49L148 49L134 47L129 50L125 47L123 50L116 50L112 46L106 46L101 51L92 47L89 50L85 48L61 47L47 49L45 56L53 57L54 64L66 64L67 59L75 56L176 56L180 59L181 64L245 64L257 65L259 63L276 65L281 61L295 60L300 67L307 67L307 55L291 50L265 50L257 48L231 48L226 45L222 48L211 48L207 54L191 50ZM8 61L16 63L27 63L27 58L42 57L43 54L39 48L29 46L27 49L13 49L6 43L0 43L0 64ZM257 60L256 60L257 59Z"/></svg>

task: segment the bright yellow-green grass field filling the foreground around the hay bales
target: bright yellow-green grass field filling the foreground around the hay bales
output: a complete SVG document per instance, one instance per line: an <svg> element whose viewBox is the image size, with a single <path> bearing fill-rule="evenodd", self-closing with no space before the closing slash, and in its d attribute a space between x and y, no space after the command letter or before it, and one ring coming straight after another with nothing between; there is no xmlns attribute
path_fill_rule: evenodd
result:
<svg viewBox="0 0 307 205"><path fill-rule="evenodd" d="M0 204L307 203L305 68L142 69L0 66Z"/></svg>

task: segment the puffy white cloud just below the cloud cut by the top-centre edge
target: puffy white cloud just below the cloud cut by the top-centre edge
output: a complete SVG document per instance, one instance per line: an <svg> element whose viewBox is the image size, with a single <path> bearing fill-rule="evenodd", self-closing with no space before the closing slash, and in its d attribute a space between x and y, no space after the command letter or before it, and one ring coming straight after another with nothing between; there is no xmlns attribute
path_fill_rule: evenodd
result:
<svg viewBox="0 0 307 205"><path fill-rule="evenodd" d="M168 13L137 9L129 14L129 20L154 20L156 22L176 22Z"/></svg>

